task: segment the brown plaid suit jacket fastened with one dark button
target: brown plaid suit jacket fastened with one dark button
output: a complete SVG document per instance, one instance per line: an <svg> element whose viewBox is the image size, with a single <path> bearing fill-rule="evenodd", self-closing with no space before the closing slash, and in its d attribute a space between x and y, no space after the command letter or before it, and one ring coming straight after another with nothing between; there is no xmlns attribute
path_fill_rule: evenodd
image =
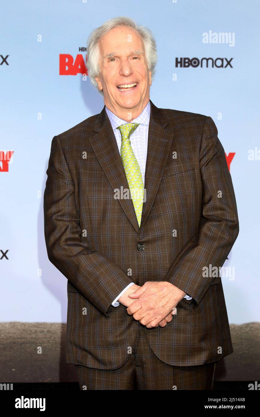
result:
<svg viewBox="0 0 260 417"><path fill-rule="evenodd" d="M45 241L68 279L68 363L127 361L140 324L111 303L132 281L169 281L192 296L166 327L145 328L163 362L200 365L233 352L221 277L202 274L224 264L239 231L225 151L212 118L150 103L140 229L132 200L114 198L128 183L105 106L51 143Z"/></svg>

